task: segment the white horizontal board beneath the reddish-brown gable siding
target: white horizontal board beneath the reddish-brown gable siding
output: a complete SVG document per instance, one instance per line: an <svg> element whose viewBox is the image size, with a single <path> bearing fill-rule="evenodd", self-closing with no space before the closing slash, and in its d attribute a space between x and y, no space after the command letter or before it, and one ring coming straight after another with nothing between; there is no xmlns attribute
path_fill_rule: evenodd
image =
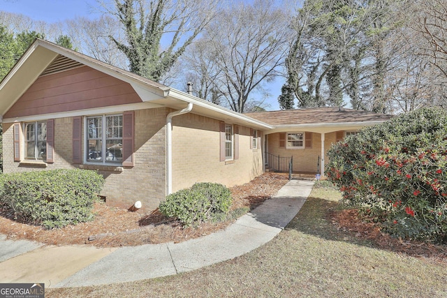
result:
<svg viewBox="0 0 447 298"><path fill-rule="evenodd" d="M41 121L46 119L58 119L77 116L92 116L101 114L122 113L124 111L145 110L163 107L155 103L131 103L129 105L113 105L110 107L96 107L94 109L75 110L69 112L58 112L52 114L31 115L16 118L5 118L2 123L24 122L24 121Z"/></svg>

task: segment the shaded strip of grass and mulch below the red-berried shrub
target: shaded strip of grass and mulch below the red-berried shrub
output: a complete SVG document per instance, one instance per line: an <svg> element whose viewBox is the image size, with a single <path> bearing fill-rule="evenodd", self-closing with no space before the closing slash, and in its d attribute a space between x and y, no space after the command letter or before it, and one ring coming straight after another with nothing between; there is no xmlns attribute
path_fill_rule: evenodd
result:
<svg viewBox="0 0 447 298"><path fill-rule="evenodd" d="M322 239L345 241L447 264L447 247L420 241L402 241L381 232L380 226L360 221L356 210L342 209L338 202L309 197L297 216L286 226Z"/></svg>

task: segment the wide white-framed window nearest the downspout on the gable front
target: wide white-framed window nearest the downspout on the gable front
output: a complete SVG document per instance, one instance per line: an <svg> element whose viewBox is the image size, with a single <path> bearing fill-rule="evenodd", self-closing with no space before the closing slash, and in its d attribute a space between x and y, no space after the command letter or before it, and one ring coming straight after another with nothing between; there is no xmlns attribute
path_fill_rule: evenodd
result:
<svg viewBox="0 0 447 298"><path fill-rule="evenodd" d="M87 163L122 163L123 117L102 115L85 118Z"/></svg>

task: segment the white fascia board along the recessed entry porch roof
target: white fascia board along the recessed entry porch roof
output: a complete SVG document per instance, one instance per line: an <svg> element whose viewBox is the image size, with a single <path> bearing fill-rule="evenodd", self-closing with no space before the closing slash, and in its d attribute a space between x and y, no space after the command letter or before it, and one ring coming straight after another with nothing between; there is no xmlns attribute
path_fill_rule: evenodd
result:
<svg viewBox="0 0 447 298"><path fill-rule="evenodd" d="M318 124L287 124L276 125L268 133L284 133L292 131L310 131L314 133L332 133L334 131L345 131L349 129L360 129L365 126L374 126L384 121L359 121L341 123L318 123Z"/></svg>

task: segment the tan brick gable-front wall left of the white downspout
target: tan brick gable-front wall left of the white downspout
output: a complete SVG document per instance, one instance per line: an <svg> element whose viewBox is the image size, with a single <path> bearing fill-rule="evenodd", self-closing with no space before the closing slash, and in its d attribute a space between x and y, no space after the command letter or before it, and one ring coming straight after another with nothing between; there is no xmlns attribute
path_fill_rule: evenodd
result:
<svg viewBox="0 0 447 298"><path fill-rule="evenodd" d="M54 119L54 163L41 167L14 162L13 125L3 123L3 172L75 167L98 170L105 177L101 195L106 197L108 204L128 209L139 200L142 211L156 209L166 193L166 114L166 108L135 111L135 166L122 169L72 164L71 117ZM82 148L84 146L82 135Z"/></svg>

